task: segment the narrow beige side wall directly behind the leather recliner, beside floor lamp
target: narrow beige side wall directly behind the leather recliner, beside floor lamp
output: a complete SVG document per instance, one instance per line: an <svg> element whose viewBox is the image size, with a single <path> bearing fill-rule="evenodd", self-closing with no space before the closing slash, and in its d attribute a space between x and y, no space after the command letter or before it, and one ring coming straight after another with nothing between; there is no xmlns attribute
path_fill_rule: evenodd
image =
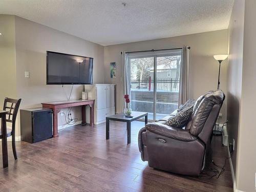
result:
<svg viewBox="0 0 256 192"><path fill-rule="evenodd" d="M236 173L242 96L244 0L234 2L228 27L228 36L227 131L229 143L233 143L234 139L234 152L231 160L234 173Z"/></svg>

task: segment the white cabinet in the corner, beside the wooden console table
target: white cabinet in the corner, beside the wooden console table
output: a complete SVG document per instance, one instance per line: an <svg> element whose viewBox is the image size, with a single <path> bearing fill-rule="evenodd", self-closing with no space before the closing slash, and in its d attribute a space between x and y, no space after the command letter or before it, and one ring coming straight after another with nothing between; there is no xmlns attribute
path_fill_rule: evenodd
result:
<svg viewBox="0 0 256 192"><path fill-rule="evenodd" d="M88 99L95 99L94 124L103 123L106 117L115 114L115 84L86 84L84 91L88 92ZM86 113L89 122L89 108Z"/></svg>

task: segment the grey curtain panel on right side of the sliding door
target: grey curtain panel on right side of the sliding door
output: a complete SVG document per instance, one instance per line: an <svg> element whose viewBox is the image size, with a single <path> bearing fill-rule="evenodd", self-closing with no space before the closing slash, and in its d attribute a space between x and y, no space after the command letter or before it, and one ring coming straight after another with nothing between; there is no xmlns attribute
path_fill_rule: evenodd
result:
<svg viewBox="0 0 256 192"><path fill-rule="evenodd" d="M189 47L184 46L181 54L179 106L188 99Z"/></svg>

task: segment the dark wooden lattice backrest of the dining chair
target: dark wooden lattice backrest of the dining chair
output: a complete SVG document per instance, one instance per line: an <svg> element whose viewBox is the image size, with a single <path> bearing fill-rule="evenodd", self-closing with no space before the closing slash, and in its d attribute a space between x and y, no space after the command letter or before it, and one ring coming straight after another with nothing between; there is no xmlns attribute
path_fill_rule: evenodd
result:
<svg viewBox="0 0 256 192"><path fill-rule="evenodd" d="M12 123L12 132L15 132L15 121L20 101L22 101L22 99L5 98L3 110L8 112L6 114L6 121Z"/></svg>

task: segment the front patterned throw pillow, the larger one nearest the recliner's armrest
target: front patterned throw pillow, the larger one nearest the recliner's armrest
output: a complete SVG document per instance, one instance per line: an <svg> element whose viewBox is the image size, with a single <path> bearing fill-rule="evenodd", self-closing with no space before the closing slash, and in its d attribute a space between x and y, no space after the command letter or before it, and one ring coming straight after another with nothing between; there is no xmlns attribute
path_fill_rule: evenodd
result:
<svg viewBox="0 0 256 192"><path fill-rule="evenodd" d="M193 105L181 110L177 115L169 118L164 124L176 128L182 128L187 124L192 113Z"/></svg>

